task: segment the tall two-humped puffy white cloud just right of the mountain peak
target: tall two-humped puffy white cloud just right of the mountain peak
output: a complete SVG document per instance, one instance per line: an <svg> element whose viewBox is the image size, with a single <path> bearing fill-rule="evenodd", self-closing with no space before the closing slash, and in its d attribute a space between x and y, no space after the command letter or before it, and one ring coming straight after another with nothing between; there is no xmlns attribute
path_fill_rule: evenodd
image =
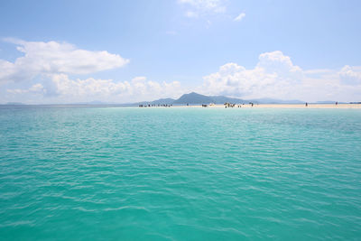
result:
<svg viewBox="0 0 361 241"><path fill-rule="evenodd" d="M292 64L281 51L265 52L259 56L254 69L246 70L236 63L227 63L217 73L205 79L205 88L211 94L220 92L232 96L274 95L274 88L286 88L302 78L301 68Z"/></svg>

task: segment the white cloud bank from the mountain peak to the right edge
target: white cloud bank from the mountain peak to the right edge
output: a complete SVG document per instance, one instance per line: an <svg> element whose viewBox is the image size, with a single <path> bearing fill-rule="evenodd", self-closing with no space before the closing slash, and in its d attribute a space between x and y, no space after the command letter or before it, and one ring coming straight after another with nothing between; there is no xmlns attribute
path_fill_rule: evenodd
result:
<svg viewBox="0 0 361 241"><path fill-rule="evenodd" d="M359 98L361 93L359 67L345 66L339 71L302 70L282 51L260 54L254 69L247 70L231 62L203 79L204 84L198 90L209 95L347 101Z"/></svg>

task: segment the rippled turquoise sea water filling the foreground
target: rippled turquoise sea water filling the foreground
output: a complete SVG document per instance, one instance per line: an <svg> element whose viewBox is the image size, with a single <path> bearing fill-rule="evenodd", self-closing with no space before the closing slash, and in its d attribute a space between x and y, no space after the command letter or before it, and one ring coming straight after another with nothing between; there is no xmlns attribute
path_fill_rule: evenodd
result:
<svg viewBox="0 0 361 241"><path fill-rule="evenodd" d="M361 238L361 110L0 107L2 240Z"/></svg>

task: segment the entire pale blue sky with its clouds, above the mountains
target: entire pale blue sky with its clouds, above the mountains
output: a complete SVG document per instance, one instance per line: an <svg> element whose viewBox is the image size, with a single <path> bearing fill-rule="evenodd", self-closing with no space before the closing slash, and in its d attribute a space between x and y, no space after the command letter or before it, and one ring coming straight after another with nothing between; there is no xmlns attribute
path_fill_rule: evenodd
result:
<svg viewBox="0 0 361 241"><path fill-rule="evenodd" d="M361 101L361 1L1 1L0 104Z"/></svg>

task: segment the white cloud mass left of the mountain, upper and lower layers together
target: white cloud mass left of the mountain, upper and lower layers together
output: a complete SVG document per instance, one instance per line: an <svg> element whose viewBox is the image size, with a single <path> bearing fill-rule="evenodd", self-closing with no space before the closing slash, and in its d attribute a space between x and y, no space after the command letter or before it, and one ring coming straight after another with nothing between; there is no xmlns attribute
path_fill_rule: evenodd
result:
<svg viewBox="0 0 361 241"><path fill-rule="evenodd" d="M0 60L0 83L11 97L51 97L56 102L88 101L101 99L113 102L129 102L156 97L178 97L182 93L180 83L156 82L145 77L130 81L113 79L72 79L74 74L91 74L124 66L125 60L107 51L86 51L69 43L24 42L6 39L17 45L24 56L14 62ZM35 80L41 82L29 88Z"/></svg>

